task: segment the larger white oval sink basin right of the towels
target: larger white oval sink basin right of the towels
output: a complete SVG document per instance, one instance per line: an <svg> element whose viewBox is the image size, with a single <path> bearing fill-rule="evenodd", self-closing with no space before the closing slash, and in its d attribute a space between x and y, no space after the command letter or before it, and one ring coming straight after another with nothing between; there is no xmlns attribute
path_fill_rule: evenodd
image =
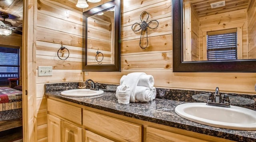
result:
<svg viewBox="0 0 256 142"><path fill-rule="evenodd" d="M179 116L208 126L234 130L256 130L256 111L238 106L224 108L206 103L186 103L175 108Z"/></svg>

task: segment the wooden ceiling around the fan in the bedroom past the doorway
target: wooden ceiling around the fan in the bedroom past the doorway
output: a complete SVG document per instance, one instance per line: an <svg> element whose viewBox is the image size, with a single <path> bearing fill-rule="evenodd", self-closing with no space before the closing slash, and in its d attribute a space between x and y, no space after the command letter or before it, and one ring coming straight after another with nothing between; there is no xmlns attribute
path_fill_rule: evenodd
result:
<svg viewBox="0 0 256 142"><path fill-rule="evenodd" d="M12 26L22 27L23 0L0 0L0 20L4 20L2 14L9 15L5 20L11 22Z"/></svg>

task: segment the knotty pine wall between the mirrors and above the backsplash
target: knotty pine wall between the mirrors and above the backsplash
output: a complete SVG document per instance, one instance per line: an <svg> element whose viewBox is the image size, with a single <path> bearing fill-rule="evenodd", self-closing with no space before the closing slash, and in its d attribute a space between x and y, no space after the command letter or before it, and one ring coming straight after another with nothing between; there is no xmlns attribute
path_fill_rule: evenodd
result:
<svg viewBox="0 0 256 142"><path fill-rule="evenodd" d="M171 3L171 0L122 0L121 72L88 72L84 80L119 84L122 75L145 72L154 76L154 86L159 88L214 91L218 86L220 92L255 94L256 73L172 72ZM131 29L132 24L140 23L143 11L150 14L148 20L159 22L158 28L148 29L146 49L139 46L140 33ZM239 20L245 22L246 17ZM246 28L243 32L246 33ZM246 45L245 40L243 44Z"/></svg>

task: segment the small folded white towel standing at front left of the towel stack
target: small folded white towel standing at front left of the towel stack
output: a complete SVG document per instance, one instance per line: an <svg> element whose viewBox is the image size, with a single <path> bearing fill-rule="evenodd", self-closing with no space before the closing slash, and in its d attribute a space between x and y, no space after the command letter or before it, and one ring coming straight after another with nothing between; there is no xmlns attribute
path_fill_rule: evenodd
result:
<svg viewBox="0 0 256 142"><path fill-rule="evenodd" d="M126 85L119 85L116 88L116 98L120 104L130 103L130 88Z"/></svg>

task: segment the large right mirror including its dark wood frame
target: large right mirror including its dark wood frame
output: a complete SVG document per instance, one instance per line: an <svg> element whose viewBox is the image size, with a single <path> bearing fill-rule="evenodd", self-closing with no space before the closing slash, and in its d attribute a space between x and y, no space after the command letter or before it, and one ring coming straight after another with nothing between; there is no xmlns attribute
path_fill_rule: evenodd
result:
<svg viewBox="0 0 256 142"><path fill-rule="evenodd" d="M256 28L250 28L255 25L250 22L254 18L250 18L250 14L248 19L244 17L251 12L248 9L251 1L225 0L226 7L212 10L210 3L220 1L172 0L173 72L256 72L256 46L252 43L256 40L253 36ZM240 6L234 7L237 5ZM208 11L204 11L206 9ZM235 33L234 45L224 40L230 33ZM215 36L213 43L216 43L216 36L220 36L222 44L212 46L209 38L212 35ZM230 56L230 52L234 56Z"/></svg>

